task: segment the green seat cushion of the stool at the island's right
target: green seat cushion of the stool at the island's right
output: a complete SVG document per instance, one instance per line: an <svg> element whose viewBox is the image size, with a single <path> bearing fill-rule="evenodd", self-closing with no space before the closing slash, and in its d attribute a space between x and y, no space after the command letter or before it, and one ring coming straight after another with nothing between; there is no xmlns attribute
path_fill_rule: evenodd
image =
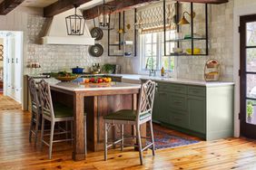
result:
<svg viewBox="0 0 256 170"><path fill-rule="evenodd" d="M104 116L104 119L113 119L113 120L130 120L130 121L135 121L136 120L136 114L137 110L133 109L122 109L117 112L111 113L109 115ZM149 117L151 114L150 113L144 113L141 115L141 120L143 118Z"/></svg>

